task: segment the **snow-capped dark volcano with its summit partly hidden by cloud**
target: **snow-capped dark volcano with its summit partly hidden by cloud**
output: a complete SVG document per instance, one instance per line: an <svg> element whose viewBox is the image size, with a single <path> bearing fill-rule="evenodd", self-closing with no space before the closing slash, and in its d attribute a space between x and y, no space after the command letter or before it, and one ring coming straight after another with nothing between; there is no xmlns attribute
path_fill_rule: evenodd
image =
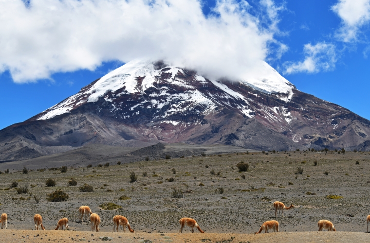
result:
<svg viewBox="0 0 370 243"><path fill-rule="evenodd" d="M0 161L89 143L367 148L370 121L297 90L267 63L260 66L256 77L212 80L163 62L129 62L31 119L0 130Z"/></svg>

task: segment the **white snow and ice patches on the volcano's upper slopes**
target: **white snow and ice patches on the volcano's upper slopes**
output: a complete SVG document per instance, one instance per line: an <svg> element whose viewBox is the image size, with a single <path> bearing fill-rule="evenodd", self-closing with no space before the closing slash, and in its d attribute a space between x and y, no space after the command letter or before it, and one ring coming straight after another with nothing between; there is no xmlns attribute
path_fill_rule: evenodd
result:
<svg viewBox="0 0 370 243"><path fill-rule="evenodd" d="M169 84L182 87L185 89L185 91L177 94L167 94L166 88L162 88L161 93L159 94L150 93L149 97L152 98L151 103L153 106L156 106L156 108L160 109L163 105L168 104L168 102L171 100L177 100L180 101L179 104L177 104L179 107L181 107L182 103L184 102L203 104L208 107L208 109L204 111L205 113L208 113L214 108L217 98L213 99L213 101L210 100L212 94L208 94L210 97L206 97L202 92L194 87L194 84L190 84L187 80L176 77L176 75L179 74L184 75L184 69L170 65L166 65L165 69L163 69L164 67L161 68L162 69L156 68L155 64L150 61L131 61L106 74L94 84L82 88L77 94L45 110L40 114L37 120L46 120L66 112L70 112L72 109L77 108L82 104L96 102L101 97L109 102L112 102L112 99L107 95L109 93L115 93L116 98L123 94L144 94L149 88L155 87L158 79L157 77L163 72L170 74L166 79ZM203 84L203 86L207 83L206 77L200 75L196 75L196 81L199 84ZM220 81L209 81L212 82L216 87L219 87L221 90L223 90L223 96L227 97L228 99L242 100L245 104L248 104L248 100L241 93L231 90ZM292 89L295 89L293 84L283 78L275 69L263 61L261 62L260 69L256 70L255 74L249 75L248 78L240 79L239 82L246 86L257 89L260 92L275 94L283 101L290 100L293 96ZM168 96L166 98L166 103L158 103L156 97L163 95ZM238 105L237 108L241 113L251 117L249 113L252 112L252 110L250 110L247 105ZM175 107L173 109L175 109ZM170 112L170 110L167 111L167 113L168 112Z"/></svg>

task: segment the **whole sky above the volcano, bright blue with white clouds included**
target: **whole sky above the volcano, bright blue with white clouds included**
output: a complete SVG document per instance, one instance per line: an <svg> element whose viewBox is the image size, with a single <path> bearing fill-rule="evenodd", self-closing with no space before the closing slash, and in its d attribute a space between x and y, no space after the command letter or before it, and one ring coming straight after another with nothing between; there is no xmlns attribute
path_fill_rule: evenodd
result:
<svg viewBox="0 0 370 243"><path fill-rule="evenodd" d="M149 17L143 22L138 20L142 29L150 25L143 32L137 32L136 23L132 25L125 18L116 20L110 17L135 13L137 9L143 11L140 4L125 5L118 0L111 1L111 5L97 3L106 3L105 0L31 0L25 5L18 1L0 3L0 32L4 33L0 37L0 129L27 120L59 103L132 58L147 54L150 58L160 58L163 53L173 62L179 62L178 56L181 56L180 61L185 60L187 65L194 64L195 68L208 73L222 67L226 75L232 68L224 63L231 63L230 67L243 67L253 62L253 58L260 58L299 90L370 119L370 0L208 0L202 1L200 8L196 0L177 0L176 3L169 0L173 6L153 0L150 1L152 5L144 9ZM122 12L116 11L119 7L114 4L118 4ZM148 5L146 1L142 4ZM77 17L76 12L81 8L87 14ZM50 14L51 9L57 14ZM229 12L222 12L224 9ZM8 13L12 15L6 19ZM58 15L60 18L55 17ZM97 21L91 24L90 17ZM155 22L150 17L163 21ZM221 24L215 24L216 20ZM166 21L163 27L161 24ZM168 22L176 24L166 33L164 29ZM49 24L51 26L47 26ZM254 25L258 27L257 31ZM123 26L121 35L117 26ZM225 56L224 63L204 66L203 63L211 62L199 58L197 53L206 49L206 43L192 44L192 38L199 35L193 30L199 29L204 33L204 30L215 26L217 33L209 31L204 37L220 39L215 41L218 46L230 43L234 48L232 51L240 50L244 55L228 55L220 50L215 56L218 59ZM182 28L186 31L173 30ZM135 31L130 32L130 29ZM98 31L94 33L95 30ZM245 35L247 37L238 36L242 41L233 35L222 40L229 33L243 31L249 34ZM183 32L189 35L184 37ZM166 40L158 37L158 33ZM184 38L188 39L179 40ZM65 44L69 42L72 44ZM17 43L17 47L9 48L12 45L9 43ZM232 61L249 54L252 57L245 57L239 63ZM232 71L238 72L239 69Z"/></svg>

